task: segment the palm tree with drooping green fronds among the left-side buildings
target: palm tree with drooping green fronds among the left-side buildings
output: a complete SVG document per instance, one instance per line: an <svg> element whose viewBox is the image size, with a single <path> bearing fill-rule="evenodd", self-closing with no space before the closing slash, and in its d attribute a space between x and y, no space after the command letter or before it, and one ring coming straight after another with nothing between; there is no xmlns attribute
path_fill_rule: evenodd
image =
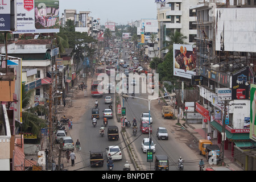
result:
<svg viewBox="0 0 256 182"><path fill-rule="evenodd" d="M30 129L29 132L39 135L40 130L46 127L46 120L34 114L36 111L43 112L44 107L36 106L28 109L33 93L34 90L26 91L25 85L22 84L22 131L24 132Z"/></svg>

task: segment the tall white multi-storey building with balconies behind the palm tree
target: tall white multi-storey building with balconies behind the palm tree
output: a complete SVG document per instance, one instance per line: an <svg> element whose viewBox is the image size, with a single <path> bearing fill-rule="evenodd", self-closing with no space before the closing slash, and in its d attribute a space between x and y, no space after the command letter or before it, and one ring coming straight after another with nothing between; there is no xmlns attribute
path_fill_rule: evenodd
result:
<svg viewBox="0 0 256 182"><path fill-rule="evenodd" d="M166 0L165 3L158 3L158 47L159 50L166 47L164 40L169 40L168 34L179 31L183 36L187 36L185 43L193 44L196 36L196 13L189 10L189 7L196 5L198 0ZM159 56L163 57L168 49L160 51Z"/></svg>

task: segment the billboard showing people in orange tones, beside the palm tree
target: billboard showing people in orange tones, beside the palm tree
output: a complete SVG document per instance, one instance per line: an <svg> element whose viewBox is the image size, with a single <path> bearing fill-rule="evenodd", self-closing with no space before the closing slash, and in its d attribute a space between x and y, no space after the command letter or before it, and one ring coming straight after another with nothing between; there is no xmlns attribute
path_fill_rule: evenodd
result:
<svg viewBox="0 0 256 182"><path fill-rule="evenodd" d="M174 44L174 76L191 79L196 75L196 55L191 45Z"/></svg>

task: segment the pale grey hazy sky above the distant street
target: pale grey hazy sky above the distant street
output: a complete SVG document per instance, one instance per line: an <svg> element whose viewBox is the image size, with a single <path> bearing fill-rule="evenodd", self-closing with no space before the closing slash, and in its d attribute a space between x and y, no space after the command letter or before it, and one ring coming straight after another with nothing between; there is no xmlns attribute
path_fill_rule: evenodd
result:
<svg viewBox="0 0 256 182"><path fill-rule="evenodd" d="M155 0L59 0L60 16L65 9L90 11L93 19L100 18L102 25L112 21L118 24L139 19L156 19Z"/></svg>

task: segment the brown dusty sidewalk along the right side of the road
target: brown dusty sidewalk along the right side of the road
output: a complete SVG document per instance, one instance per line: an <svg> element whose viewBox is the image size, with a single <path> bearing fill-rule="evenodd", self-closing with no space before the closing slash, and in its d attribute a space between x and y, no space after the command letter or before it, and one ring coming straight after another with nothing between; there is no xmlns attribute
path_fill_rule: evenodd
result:
<svg viewBox="0 0 256 182"><path fill-rule="evenodd" d="M159 92L160 94L162 94L162 96L164 95L162 90L159 89ZM166 102L168 103L168 105L170 105L169 100L166 100ZM175 117L177 117L177 113L178 111L177 109L175 109ZM181 119L182 117L180 114L180 121ZM207 126L205 127L207 128ZM187 130L191 135L193 135L193 137L195 137L197 140L205 139L205 135L207 136L207 134L205 134L205 130L202 128L202 123L185 125L184 129ZM214 144L218 144L217 139L213 139L212 142ZM220 146L221 144L218 144L218 145ZM224 163L226 164L226 166L212 165L210 167L214 171L244 171L240 166L238 166L238 164L233 162L234 159L231 156L231 154L232 154L231 150L224 151Z"/></svg>

